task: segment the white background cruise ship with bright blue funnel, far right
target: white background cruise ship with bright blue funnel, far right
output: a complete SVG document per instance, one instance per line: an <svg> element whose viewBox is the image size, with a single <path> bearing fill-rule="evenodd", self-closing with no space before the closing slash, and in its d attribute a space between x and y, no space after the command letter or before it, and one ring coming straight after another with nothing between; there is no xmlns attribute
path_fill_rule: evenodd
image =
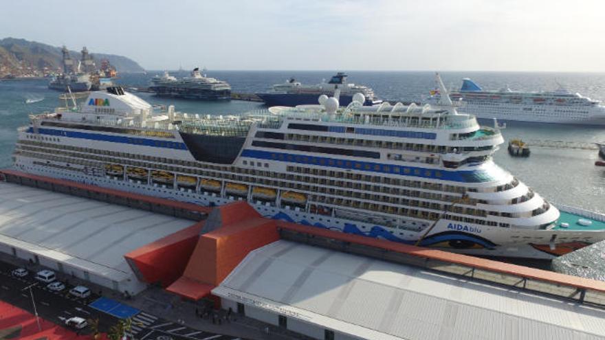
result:
<svg viewBox="0 0 605 340"><path fill-rule="evenodd" d="M479 118L560 124L605 125L605 106L563 87L551 92L520 92L509 88L484 91L465 78L460 91L450 93L467 113Z"/></svg>

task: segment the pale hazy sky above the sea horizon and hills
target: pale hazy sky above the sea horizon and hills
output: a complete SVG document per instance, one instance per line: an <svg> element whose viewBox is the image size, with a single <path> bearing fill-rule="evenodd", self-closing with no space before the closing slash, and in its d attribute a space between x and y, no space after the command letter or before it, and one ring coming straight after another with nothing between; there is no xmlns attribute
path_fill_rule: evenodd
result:
<svg viewBox="0 0 605 340"><path fill-rule="evenodd" d="M605 0L0 0L0 37L146 69L605 71Z"/></svg>

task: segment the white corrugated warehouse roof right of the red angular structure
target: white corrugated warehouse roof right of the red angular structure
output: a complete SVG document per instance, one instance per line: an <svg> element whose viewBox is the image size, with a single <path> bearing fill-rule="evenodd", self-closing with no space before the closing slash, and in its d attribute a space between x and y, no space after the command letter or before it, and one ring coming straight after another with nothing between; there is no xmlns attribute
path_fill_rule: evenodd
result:
<svg viewBox="0 0 605 340"><path fill-rule="evenodd" d="M603 339L605 310L280 240L212 293L364 339Z"/></svg>

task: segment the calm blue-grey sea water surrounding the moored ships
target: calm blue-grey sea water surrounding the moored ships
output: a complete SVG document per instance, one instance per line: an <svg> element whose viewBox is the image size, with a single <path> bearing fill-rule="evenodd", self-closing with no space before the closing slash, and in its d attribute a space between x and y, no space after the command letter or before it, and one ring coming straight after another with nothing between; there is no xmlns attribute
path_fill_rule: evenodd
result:
<svg viewBox="0 0 605 340"><path fill-rule="evenodd" d="M124 74L120 84L145 87L157 73ZM177 73L174 73L178 75ZM272 84L295 77L304 83L315 84L328 79L329 71L211 71L209 76L228 81L234 91L257 92L270 89ZM182 74L181 76L184 76ZM496 73L443 72L446 87L458 88L461 79L472 78L484 89L511 89L538 91L554 90L558 83L569 91L582 93L593 99L605 100L605 73ZM355 71L349 80L372 87L382 99L421 101L434 88L432 72L375 72ZM44 80L10 80L0 82L0 168L12 163L11 153L17 139L16 129L28 123L30 113L52 111L58 106L58 93L47 89ZM174 104L179 111L201 114L238 114L262 109L254 102L194 102L154 98L139 94L153 104ZM27 104L26 100L41 100ZM491 122L485 122L491 124ZM505 139L605 141L605 127L564 126L557 124L528 124L509 122L503 130ZM573 205L605 213L605 168L594 166L595 150L533 148L529 158L513 158L506 145L496 152L496 163L516 175L536 192L553 203Z"/></svg>

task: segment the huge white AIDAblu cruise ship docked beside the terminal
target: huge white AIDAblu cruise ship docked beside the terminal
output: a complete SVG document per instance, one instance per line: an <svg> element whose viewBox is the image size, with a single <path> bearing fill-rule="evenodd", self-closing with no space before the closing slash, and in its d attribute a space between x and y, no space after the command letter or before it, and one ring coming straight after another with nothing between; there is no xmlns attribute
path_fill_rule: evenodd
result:
<svg viewBox="0 0 605 340"><path fill-rule="evenodd" d="M552 258L605 239L605 216L559 210L494 163L498 124L447 101L363 101L200 117L111 87L32 115L14 168L476 255Z"/></svg>

